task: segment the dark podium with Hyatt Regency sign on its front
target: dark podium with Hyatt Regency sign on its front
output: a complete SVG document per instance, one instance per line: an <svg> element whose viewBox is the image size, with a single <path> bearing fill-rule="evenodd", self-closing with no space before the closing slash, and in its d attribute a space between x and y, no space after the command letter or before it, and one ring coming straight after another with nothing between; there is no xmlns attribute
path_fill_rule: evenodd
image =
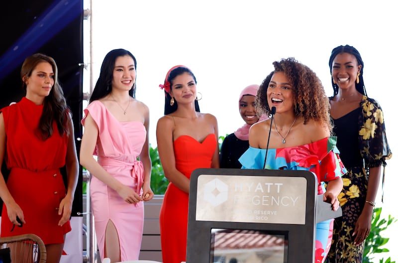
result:
<svg viewBox="0 0 398 263"><path fill-rule="evenodd" d="M196 169L187 263L312 263L316 223L339 216L309 171Z"/></svg>

